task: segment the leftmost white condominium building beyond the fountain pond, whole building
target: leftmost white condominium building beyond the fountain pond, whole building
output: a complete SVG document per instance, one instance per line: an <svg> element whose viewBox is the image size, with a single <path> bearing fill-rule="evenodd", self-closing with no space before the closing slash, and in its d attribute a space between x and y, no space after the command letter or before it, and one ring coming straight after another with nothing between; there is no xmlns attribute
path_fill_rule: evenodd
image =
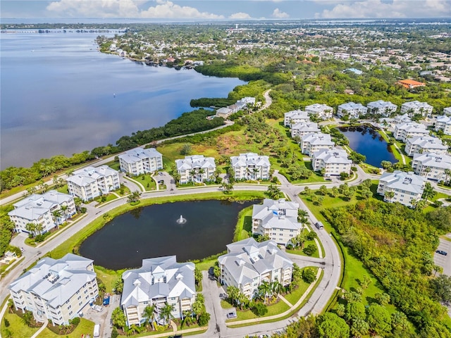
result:
<svg viewBox="0 0 451 338"><path fill-rule="evenodd" d="M33 234L44 234L76 213L73 197L56 190L50 190L42 195L32 194L13 206L14 209L8 215L15 225L14 231L30 233L27 224L33 223L41 228L40 231L33 230Z"/></svg>

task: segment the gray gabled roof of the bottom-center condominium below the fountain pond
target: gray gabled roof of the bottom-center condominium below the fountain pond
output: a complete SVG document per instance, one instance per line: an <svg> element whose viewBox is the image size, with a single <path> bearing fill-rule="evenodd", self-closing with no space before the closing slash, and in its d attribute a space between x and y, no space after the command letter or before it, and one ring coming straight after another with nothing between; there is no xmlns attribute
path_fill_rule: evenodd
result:
<svg viewBox="0 0 451 338"><path fill-rule="evenodd" d="M142 268L127 270L121 306L137 306L159 297L192 298L196 294L194 263L177 263L175 256L147 258Z"/></svg>

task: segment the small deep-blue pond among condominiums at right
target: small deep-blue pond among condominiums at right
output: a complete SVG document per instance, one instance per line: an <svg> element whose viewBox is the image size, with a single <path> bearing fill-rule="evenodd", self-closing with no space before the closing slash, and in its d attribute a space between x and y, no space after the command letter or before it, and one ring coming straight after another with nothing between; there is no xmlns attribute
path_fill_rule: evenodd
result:
<svg viewBox="0 0 451 338"><path fill-rule="evenodd" d="M373 128L362 125L339 129L350 140L352 150L366 156L366 163L380 167L382 161L397 162L388 148L388 143Z"/></svg>

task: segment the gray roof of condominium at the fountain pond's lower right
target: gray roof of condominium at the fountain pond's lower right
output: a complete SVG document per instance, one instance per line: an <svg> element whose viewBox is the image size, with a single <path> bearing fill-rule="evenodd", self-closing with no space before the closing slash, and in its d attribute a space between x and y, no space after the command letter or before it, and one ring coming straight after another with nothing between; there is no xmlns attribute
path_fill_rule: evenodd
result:
<svg viewBox="0 0 451 338"><path fill-rule="evenodd" d="M237 284L252 282L263 273L293 265L274 241L257 243L255 239L248 238L228 244L227 249L228 253L219 256L218 261L226 266Z"/></svg>

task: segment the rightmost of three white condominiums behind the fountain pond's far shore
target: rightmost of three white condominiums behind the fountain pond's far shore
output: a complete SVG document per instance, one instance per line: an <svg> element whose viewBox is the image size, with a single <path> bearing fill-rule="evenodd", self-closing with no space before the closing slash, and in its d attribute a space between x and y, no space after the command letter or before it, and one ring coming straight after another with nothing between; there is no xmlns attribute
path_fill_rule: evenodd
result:
<svg viewBox="0 0 451 338"><path fill-rule="evenodd" d="M230 156L230 163L235 172L235 180L269 180L271 164L269 157L255 153Z"/></svg>

